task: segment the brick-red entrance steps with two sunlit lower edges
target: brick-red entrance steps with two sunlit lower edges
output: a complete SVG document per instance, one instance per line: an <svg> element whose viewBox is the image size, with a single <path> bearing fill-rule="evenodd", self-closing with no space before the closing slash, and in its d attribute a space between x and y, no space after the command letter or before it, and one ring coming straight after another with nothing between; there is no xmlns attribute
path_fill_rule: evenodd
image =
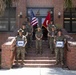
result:
<svg viewBox="0 0 76 75"><path fill-rule="evenodd" d="M50 53L47 41L43 41L42 55L35 53L35 41L33 41L32 47L29 48L24 62L24 67L59 67L55 65L56 58L54 54ZM19 63L21 63L21 60L19 60Z"/></svg>

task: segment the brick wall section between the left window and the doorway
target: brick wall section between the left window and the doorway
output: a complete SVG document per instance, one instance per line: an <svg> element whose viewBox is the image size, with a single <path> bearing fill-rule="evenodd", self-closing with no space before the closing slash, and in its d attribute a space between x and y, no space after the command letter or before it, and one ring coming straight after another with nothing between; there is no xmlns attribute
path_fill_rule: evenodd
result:
<svg viewBox="0 0 76 75"><path fill-rule="evenodd" d="M22 18L20 19L18 15L22 12ZM17 10L16 10L16 23L17 25L21 26L24 22L24 18L26 16L26 0L19 0L17 3Z"/></svg>

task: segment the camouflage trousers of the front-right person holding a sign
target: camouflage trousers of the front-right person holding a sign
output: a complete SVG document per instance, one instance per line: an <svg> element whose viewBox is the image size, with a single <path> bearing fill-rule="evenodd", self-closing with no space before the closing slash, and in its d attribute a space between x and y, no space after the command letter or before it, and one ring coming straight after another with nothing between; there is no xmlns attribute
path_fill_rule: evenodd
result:
<svg viewBox="0 0 76 75"><path fill-rule="evenodd" d="M55 54L56 54L56 62L63 62L64 48L56 48Z"/></svg>

